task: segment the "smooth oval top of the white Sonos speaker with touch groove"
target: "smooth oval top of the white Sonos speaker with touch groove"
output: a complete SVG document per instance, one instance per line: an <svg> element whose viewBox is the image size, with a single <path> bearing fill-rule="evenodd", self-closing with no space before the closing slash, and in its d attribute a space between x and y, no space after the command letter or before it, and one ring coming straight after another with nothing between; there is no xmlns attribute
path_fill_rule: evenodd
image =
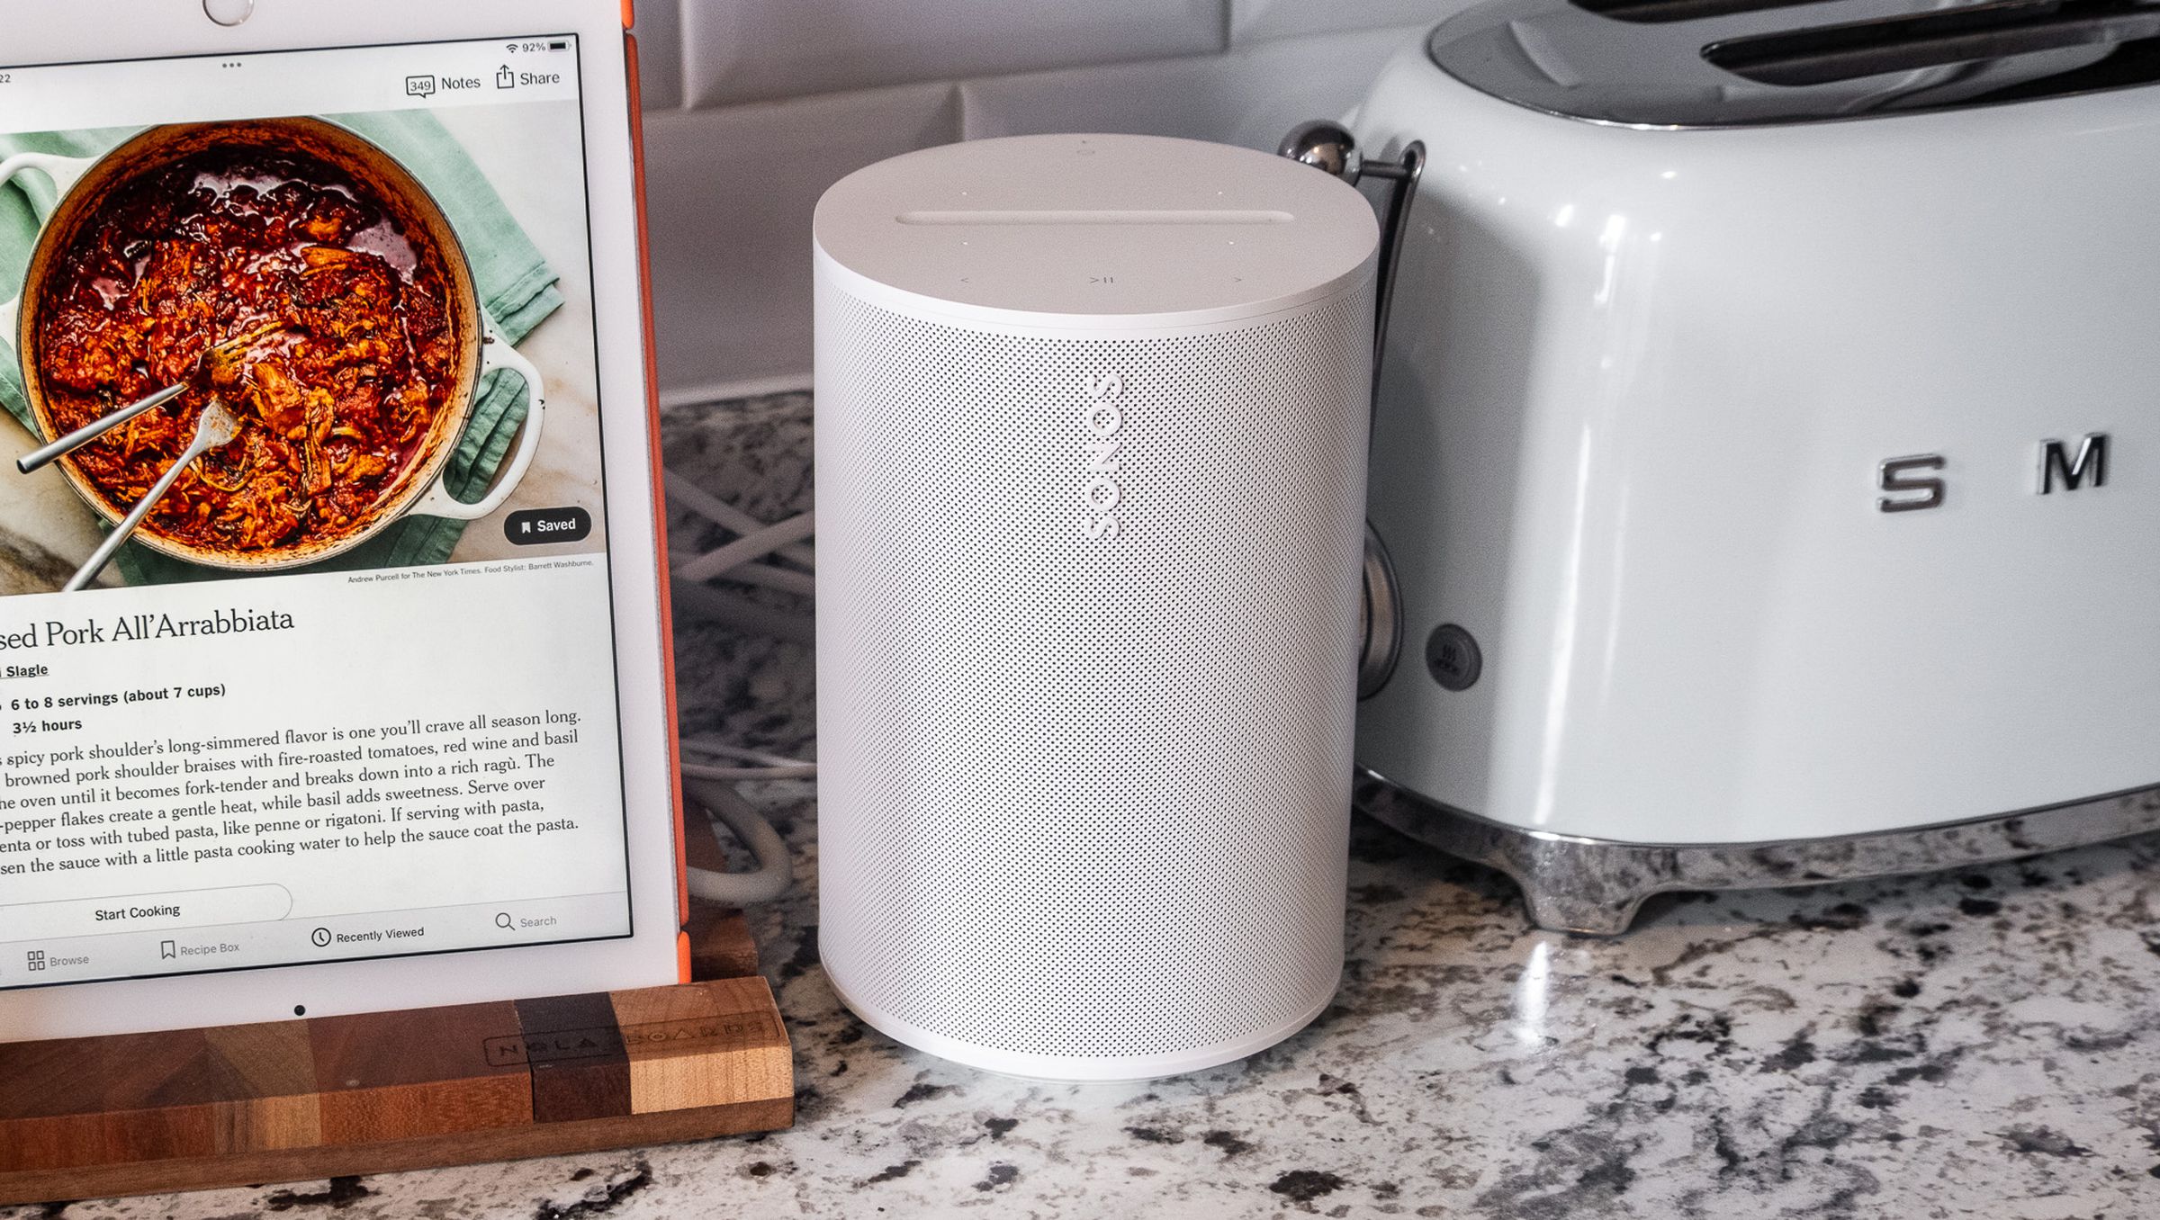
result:
<svg viewBox="0 0 2160 1220"><path fill-rule="evenodd" d="M905 153L825 192L819 259L909 313L1136 330L1261 317L1369 274L1354 188L1162 136L1007 136Z"/></svg>

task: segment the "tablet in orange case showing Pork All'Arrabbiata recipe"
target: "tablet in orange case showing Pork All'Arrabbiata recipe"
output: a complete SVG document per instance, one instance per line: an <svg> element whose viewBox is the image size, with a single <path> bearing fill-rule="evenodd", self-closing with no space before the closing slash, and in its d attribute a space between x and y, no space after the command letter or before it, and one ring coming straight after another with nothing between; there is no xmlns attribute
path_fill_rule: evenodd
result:
<svg viewBox="0 0 2160 1220"><path fill-rule="evenodd" d="M685 978L626 19L11 6L0 1041Z"/></svg>

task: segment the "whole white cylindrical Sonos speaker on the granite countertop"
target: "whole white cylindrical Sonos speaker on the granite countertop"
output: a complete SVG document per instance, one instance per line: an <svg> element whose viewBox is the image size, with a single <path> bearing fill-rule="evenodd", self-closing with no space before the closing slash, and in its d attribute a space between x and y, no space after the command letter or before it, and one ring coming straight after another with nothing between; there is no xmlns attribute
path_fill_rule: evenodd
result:
<svg viewBox="0 0 2160 1220"><path fill-rule="evenodd" d="M1378 222L1017 136L816 209L819 946L892 1039L1194 1071L1341 974Z"/></svg>

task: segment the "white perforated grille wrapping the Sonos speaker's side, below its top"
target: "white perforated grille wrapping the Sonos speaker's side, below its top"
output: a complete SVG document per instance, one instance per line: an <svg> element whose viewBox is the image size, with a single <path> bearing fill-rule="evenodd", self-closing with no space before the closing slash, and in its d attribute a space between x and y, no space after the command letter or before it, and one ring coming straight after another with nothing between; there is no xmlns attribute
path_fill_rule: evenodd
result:
<svg viewBox="0 0 2160 1220"><path fill-rule="evenodd" d="M1067 341L819 285L821 950L851 1000L1061 1058L1324 1002L1367 309ZM1106 374L1119 536L1089 540Z"/></svg>

